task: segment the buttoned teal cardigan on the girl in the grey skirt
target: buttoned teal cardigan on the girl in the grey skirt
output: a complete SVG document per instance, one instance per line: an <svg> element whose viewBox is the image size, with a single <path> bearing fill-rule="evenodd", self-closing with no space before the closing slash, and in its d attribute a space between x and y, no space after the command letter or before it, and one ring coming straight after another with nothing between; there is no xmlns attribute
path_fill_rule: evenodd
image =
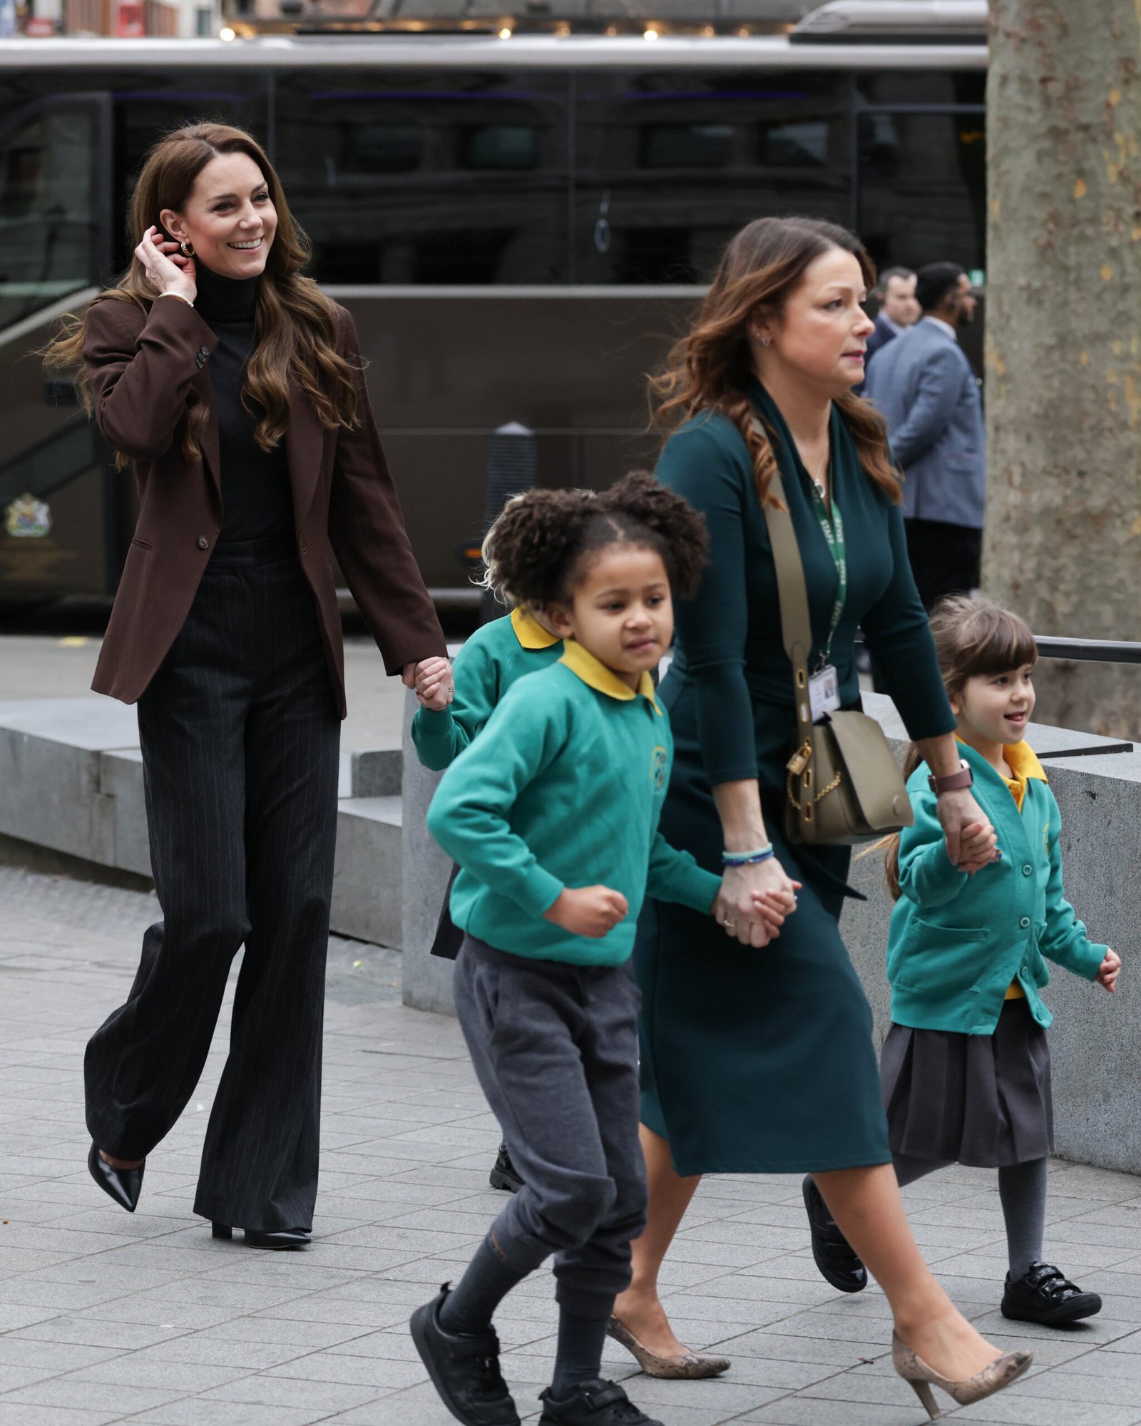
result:
<svg viewBox="0 0 1141 1426"><path fill-rule="evenodd" d="M1027 780L1020 813L980 753L963 744L961 756L1003 860L973 877L950 863L927 764L920 764L907 783L916 824L900 836L903 896L887 941L891 1020L914 1030L991 1035L1017 980L1045 1027L1054 1018L1038 994L1050 981L1045 960L1094 980L1105 947L1090 941L1063 894L1061 813L1045 774Z"/></svg>

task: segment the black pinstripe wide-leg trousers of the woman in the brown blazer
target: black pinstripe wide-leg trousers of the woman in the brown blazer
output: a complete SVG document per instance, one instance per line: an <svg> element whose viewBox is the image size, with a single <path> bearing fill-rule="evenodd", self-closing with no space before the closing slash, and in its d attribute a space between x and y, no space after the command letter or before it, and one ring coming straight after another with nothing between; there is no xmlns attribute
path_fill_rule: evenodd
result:
<svg viewBox="0 0 1141 1426"><path fill-rule="evenodd" d="M138 730L163 920L87 1045L87 1127L120 1158L170 1131L244 945L194 1211L311 1228L341 723L295 556L215 552Z"/></svg>

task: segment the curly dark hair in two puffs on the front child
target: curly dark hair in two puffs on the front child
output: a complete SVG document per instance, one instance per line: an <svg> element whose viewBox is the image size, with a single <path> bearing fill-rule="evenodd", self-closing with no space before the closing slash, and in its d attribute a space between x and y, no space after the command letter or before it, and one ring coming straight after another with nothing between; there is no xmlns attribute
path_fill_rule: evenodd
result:
<svg viewBox="0 0 1141 1426"><path fill-rule="evenodd" d="M603 549L633 545L662 556L670 586L696 593L709 558L705 516L648 471L632 471L609 491L528 491L495 522L485 559L503 596L516 605L566 603Z"/></svg>

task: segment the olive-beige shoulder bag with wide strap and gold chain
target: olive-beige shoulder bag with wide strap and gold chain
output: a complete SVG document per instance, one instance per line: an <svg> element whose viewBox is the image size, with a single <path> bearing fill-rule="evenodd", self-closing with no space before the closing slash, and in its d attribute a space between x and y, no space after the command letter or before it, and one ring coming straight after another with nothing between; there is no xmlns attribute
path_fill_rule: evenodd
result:
<svg viewBox="0 0 1141 1426"><path fill-rule="evenodd" d="M769 489L783 506L766 503L763 509L780 590L780 632L796 692L784 834L806 846L849 846L910 827L916 817L903 773L876 719L850 709L826 713L819 723L812 720L812 619L804 563L779 471Z"/></svg>

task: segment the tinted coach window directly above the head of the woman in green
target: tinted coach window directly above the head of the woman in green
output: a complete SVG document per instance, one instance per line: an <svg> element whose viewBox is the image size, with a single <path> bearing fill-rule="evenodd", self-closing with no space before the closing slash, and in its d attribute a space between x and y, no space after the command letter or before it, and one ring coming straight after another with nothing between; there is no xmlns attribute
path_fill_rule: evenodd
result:
<svg viewBox="0 0 1141 1426"><path fill-rule="evenodd" d="M843 74L576 76L575 281L703 282L772 214L847 222Z"/></svg>

